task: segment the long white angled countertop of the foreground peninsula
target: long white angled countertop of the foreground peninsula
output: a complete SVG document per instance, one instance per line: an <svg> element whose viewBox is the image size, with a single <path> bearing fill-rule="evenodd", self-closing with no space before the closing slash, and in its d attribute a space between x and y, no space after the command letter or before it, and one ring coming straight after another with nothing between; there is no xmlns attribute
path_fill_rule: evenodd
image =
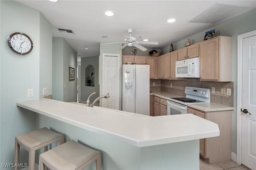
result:
<svg viewBox="0 0 256 170"><path fill-rule="evenodd" d="M17 106L137 147L220 135L216 123L193 114L150 117L45 98Z"/></svg>

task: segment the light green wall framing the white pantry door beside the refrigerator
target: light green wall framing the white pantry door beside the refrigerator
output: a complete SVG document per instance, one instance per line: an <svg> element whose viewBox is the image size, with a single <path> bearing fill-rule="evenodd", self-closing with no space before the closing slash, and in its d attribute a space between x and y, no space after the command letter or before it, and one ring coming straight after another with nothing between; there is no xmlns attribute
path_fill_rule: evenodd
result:
<svg viewBox="0 0 256 170"><path fill-rule="evenodd" d="M122 50L117 51L120 47L122 47L122 43L113 43L113 44L105 44L102 45L102 43L100 43L100 56L99 56L99 60L100 60L100 95L102 95L102 53L112 53L112 54L119 54L119 63L120 63L120 67L119 67L119 71L120 71L120 76L119 76L119 87L122 87ZM121 103L122 100L122 88L119 89L119 109L121 110ZM101 105L100 105L101 106Z"/></svg>

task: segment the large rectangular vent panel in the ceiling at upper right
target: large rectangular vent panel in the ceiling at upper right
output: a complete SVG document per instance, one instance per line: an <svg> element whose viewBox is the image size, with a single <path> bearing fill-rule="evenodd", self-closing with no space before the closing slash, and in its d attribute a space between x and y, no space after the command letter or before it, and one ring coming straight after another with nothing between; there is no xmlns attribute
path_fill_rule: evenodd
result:
<svg viewBox="0 0 256 170"><path fill-rule="evenodd" d="M216 3L190 22L220 23L241 14L248 6Z"/></svg>

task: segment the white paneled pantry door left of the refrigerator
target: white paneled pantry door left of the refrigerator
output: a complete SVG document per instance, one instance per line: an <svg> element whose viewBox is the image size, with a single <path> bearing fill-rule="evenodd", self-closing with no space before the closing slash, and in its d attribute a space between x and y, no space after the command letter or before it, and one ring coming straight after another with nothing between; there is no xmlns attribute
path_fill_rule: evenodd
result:
<svg viewBox="0 0 256 170"><path fill-rule="evenodd" d="M119 110L119 57L104 54L102 60L102 107Z"/></svg>

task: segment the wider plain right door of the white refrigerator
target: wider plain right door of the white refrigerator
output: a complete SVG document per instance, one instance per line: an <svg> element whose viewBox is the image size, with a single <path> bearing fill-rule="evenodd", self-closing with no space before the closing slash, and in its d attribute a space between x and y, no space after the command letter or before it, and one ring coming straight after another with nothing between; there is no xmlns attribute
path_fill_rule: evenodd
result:
<svg viewBox="0 0 256 170"><path fill-rule="evenodd" d="M149 115L149 65L135 65L135 113Z"/></svg>

